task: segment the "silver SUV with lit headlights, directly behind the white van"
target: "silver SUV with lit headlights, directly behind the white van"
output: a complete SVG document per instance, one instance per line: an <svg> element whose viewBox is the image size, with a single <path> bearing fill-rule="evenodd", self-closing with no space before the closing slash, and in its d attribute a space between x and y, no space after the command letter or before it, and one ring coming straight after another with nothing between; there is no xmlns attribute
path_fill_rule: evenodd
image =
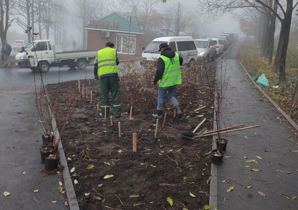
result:
<svg viewBox="0 0 298 210"><path fill-rule="evenodd" d="M194 42L198 50L198 61L202 61L203 58L207 62L209 59L211 59L212 61L215 60L215 41L213 41L212 39L195 39Z"/></svg>

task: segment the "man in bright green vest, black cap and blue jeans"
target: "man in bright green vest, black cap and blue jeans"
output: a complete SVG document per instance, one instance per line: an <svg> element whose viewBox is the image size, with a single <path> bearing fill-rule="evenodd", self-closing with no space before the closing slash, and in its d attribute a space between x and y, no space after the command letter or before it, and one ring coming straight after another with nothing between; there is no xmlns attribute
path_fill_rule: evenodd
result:
<svg viewBox="0 0 298 210"><path fill-rule="evenodd" d="M157 114L152 116L162 118L164 110L164 96L168 92L168 97L176 109L179 118L182 117L182 112L176 99L176 86L182 84L180 65L183 63L183 58L169 48L167 43L159 45L161 56L157 61L157 69L154 76L154 84L159 84Z"/></svg>

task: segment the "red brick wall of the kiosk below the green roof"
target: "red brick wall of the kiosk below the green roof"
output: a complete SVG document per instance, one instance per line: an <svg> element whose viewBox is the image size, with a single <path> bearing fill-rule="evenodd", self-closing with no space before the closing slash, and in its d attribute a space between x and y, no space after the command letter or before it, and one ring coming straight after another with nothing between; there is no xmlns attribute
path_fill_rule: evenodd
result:
<svg viewBox="0 0 298 210"><path fill-rule="evenodd" d="M135 57L141 57L142 46L140 46L140 41L141 41L140 36L142 35L141 34L136 35L136 54L127 56L127 54L118 53L118 57L120 60L127 60ZM88 50L100 50L105 47L106 42L112 42L116 46L116 32L110 32L110 37L101 37L101 31L88 30L88 41L87 41Z"/></svg>

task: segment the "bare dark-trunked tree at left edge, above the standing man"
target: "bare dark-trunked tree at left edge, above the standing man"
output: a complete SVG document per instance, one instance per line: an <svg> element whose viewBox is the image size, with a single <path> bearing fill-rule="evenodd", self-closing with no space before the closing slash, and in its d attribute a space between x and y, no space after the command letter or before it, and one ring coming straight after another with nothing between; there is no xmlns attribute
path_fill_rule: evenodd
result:
<svg viewBox="0 0 298 210"><path fill-rule="evenodd" d="M11 26L11 12L13 8L13 0L0 0L0 37L1 40L6 39L7 30Z"/></svg>

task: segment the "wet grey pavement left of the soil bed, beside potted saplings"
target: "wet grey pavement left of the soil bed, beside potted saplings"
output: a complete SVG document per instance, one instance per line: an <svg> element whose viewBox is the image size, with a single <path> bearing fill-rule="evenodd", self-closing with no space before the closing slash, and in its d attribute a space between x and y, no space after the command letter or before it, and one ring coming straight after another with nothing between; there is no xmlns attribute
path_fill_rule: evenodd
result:
<svg viewBox="0 0 298 210"><path fill-rule="evenodd" d="M42 130L37 122L34 90L0 91L0 100L0 209L67 209L65 198L58 192L62 176L41 172ZM39 191L33 192L35 189ZM4 191L10 195L4 197Z"/></svg>

